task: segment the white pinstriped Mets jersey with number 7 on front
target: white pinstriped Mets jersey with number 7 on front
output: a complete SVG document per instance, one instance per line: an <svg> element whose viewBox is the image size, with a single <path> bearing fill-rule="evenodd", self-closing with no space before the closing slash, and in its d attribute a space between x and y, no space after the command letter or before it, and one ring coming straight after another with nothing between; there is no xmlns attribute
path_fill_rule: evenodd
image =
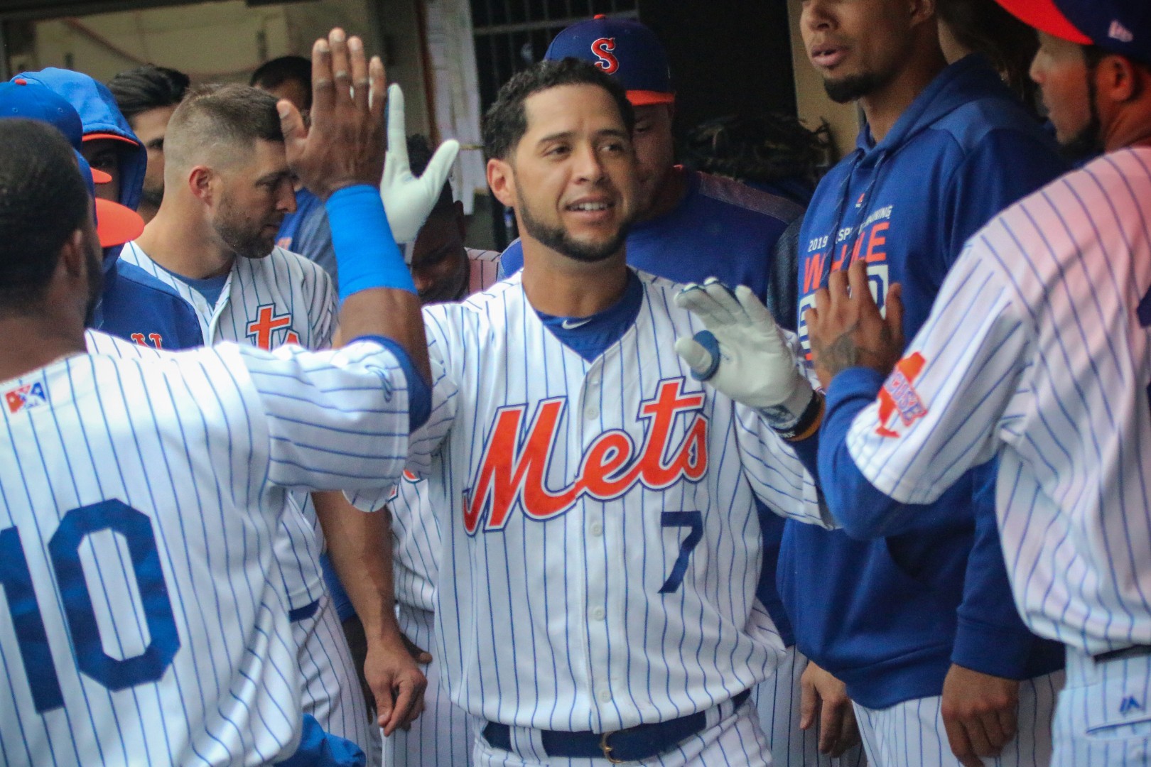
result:
<svg viewBox="0 0 1151 767"><path fill-rule="evenodd" d="M710 708L783 651L754 600L752 493L822 522L815 488L756 414L691 378L672 344L701 325L678 287L641 283L635 323L594 362L519 275L424 309L443 373L410 466L444 537L436 658L477 716L618 730Z"/></svg>

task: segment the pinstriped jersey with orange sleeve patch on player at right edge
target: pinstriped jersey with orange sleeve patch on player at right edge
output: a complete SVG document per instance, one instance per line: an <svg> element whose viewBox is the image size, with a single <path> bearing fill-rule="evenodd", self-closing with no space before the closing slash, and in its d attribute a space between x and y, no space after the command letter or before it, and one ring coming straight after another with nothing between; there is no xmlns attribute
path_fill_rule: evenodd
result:
<svg viewBox="0 0 1151 767"><path fill-rule="evenodd" d="M1149 227L1149 148L1005 210L848 435L863 475L904 503L998 452L1016 605L1087 653L1151 644Z"/></svg>

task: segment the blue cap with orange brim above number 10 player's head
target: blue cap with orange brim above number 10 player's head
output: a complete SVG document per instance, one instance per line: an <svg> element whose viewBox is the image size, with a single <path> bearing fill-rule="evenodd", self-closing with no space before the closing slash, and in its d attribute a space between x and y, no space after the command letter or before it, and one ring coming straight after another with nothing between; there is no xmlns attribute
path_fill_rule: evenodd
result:
<svg viewBox="0 0 1151 767"><path fill-rule="evenodd" d="M144 220L138 213L119 202L96 197L96 184L107 184L112 176L87 164L79 147L84 141L84 123L67 99L44 85L29 83L17 77L10 83L0 83L0 120L21 117L48 123L68 139L76 154L89 195L96 201L96 231L101 247L113 247L130 243L144 231Z"/></svg>

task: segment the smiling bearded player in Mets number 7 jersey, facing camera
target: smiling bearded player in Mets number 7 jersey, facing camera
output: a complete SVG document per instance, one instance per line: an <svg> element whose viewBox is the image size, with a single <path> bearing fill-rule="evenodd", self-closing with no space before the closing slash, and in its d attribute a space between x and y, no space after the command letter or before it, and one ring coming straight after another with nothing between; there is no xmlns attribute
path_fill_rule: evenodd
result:
<svg viewBox="0 0 1151 767"><path fill-rule="evenodd" d="M433 654L481 767L770 760L747 698L783 643L754 599L753 497L823 517L784 440L666 348L699 327L678 289L626 266L632 117L587 62L504 85L488 182L527 262L425 308L444 370L411 446L443 535Z"/></svg>

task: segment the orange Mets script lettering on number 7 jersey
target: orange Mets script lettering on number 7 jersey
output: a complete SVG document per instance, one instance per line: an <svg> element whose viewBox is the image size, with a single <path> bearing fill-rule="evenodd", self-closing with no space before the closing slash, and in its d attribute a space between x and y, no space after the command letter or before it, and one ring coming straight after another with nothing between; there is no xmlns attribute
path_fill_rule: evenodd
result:
<svg viewBox="0 0 1151 767"><path fill-rule="evenodd" d="M500 408L483 450L475 483L464 491L464 527L501 530L517 504L529 519L559 516L584 494L596 500L619 498L638 484L663 490L680 480L698 482L708 469L708 420L700 413L703 394L684 393L684 379L663 381L654 399L640 404L638 417L647 422L643 443L637 447L622 429L605 431L584 453L576 478L566 488L546 486L547 468L559 435L559 420L567 401L556 397L541 401L524 432L526 405ZM671 444L676 419L688 419L684 438Z"/></svg>

